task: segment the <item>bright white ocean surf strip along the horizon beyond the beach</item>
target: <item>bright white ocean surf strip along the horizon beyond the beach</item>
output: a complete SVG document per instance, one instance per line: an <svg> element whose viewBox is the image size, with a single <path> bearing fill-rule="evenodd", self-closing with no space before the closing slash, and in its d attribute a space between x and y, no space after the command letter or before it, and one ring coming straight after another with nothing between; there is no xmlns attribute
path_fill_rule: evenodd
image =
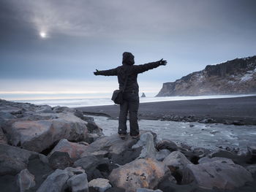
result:
<svg viewBox="0 0 256 192"><path fill-rule="evenodd" d="M158 101L182 101L193 99L217 99L217 98L233 98L243 96L255 96L254 95L216 95L216 96L165 96L165 97L140 97L140 103L146 102L158 102ZM51 107L65 106L65 107L89 107L100 105L111 105L110 97L102 98L81 98L81 99L34 99L34 100L11 100L18 102L29 102L31 104L48 104Z"/></svg>

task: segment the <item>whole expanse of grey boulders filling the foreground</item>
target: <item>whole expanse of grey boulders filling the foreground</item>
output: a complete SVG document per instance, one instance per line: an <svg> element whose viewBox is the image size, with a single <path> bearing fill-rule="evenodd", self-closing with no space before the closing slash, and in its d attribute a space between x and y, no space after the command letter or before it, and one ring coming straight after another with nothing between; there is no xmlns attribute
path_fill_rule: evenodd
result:
<svg viewBox="0 0 256 192"><path fill-rule="evenodd" d="M0 100L1 191L255 191L246 153L178 145L151 131L105 137L68 107Z"/></svg>

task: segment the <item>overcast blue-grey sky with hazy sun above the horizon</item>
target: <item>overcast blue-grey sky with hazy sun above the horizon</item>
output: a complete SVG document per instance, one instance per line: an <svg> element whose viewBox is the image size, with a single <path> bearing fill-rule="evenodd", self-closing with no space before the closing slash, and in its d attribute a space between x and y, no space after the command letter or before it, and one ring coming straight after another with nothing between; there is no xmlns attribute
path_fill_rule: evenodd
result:
<svg viewBox="0 0 256 192"><path fill-rule="evenodd" d="M116 77L93 72L121 65L124 51L135 64L167 60L138 79L157 93L208 64L256 55L255 9L255 0L1 0L0 98L111 92Z"/></svg>

